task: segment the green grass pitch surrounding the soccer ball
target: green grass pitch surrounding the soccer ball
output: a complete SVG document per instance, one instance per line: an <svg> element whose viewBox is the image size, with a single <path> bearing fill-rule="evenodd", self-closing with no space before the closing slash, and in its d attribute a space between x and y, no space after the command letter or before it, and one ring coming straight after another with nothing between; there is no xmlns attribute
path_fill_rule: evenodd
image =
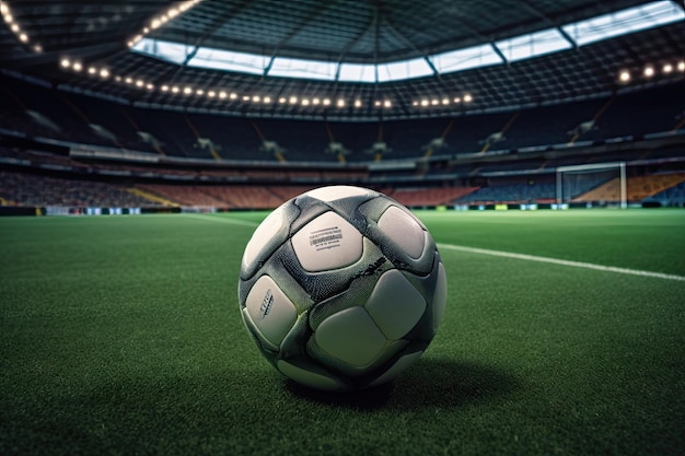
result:
<svg viewBox="0 0 685 456"><path fill-rule="evenodd" d="M418 214L442 326L347 395L287 381L242 326L264 213L0 219L0 454L684 454L685 211Z"/></svg>

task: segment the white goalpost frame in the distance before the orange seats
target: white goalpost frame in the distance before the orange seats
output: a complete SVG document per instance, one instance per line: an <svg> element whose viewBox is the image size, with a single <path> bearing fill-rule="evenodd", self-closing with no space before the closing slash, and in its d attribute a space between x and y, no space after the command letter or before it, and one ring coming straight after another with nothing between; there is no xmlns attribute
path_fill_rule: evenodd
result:
<svg viewBox="0 0 685 456"><path fill-rule="evenodd" d="M556 200L627 208L626 162L557 167Z"/></svg>

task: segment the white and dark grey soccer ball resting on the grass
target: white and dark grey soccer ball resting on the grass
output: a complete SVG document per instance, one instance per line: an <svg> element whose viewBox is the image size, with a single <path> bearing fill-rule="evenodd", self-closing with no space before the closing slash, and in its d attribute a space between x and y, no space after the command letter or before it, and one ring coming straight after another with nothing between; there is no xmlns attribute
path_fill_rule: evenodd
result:
<svg viewBox="0 0 685 456"><path fill-rule="evenodd" d="M325 390L383 384L436 335L448 282L431 235L407 208L361 187L302 194L245 247L237 296L262 354Z"/></svg>

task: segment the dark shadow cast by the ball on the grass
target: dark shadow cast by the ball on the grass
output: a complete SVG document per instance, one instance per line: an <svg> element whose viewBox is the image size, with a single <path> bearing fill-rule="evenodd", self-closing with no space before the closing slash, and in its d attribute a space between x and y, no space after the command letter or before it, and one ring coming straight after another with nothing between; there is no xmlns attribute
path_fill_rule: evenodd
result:
<svg viewBox="0 0 685 456"><path fill-rule="evenodd" d="M521 382L502 370L474 362L420 360L394 382L349 393L320 391L292 381L287 389L315 402L373 410L453 408L492 400L520 388Z"/></svg>

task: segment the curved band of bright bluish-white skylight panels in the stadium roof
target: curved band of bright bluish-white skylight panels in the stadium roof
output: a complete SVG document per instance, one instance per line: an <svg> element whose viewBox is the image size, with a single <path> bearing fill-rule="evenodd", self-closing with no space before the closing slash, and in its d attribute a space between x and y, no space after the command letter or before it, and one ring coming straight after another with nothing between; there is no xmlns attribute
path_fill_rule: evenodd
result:
<svg viewBox="0 0 685 456"><path fill-rule="evenodd" d="M150 26L146 26L141 33L131 38L129 47L133 52L190 68L332 82L382 83L494 65L509 65L682 22L685 20L685 11L677 3L680 2L671 0L650 1L625 10L512 36L494 43L387 63L357 65L341 61L294 59L205 46L195 46L194 50L188 54L187 43L159 39L159 37L151 36L154 34L149 34ZM156 19L156 24L161 24L159 19Z"/></svg>

